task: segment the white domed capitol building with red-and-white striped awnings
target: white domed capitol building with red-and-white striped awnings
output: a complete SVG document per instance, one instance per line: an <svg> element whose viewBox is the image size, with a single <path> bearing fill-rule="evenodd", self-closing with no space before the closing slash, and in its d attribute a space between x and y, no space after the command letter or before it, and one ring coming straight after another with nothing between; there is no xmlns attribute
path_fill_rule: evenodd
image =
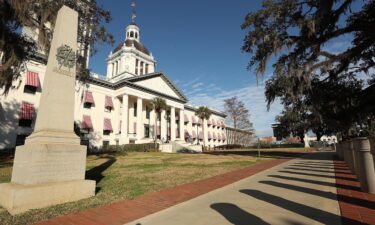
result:
<svg viewBox="0 0 375 225"><path fill-rule="evenodd" d="M204 138L208 147L227 144L234 129L226 128L226 115L211 109L210 119L202 123L195 116L197 107L188 105L165 74L155 72L156 61L140 37L135 23L127 26L125 40L107 58L106 76L92 74L86 83L76 83L75 123L89 146L150 143L154 131L160 143L193 147ZM43 57L28 61L23 76L0 97L0 149L22 145L32 133L45 69ZM155 97L165 99L168 106L156 126L151 107Z"/></svg>

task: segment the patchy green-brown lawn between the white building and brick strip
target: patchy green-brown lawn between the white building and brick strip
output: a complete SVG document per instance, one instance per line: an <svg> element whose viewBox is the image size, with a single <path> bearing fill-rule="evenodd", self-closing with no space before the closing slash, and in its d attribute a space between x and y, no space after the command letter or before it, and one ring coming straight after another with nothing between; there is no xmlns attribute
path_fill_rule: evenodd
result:
<svg viewBox="0 0 375 225"><path fill-rule="evenodd" d="M30 224L59 215L98 207L111 202L134 199L147 192L223 174L270 160L254 154L165 154L89 156L86 179L97 181L97 194L89 199L11 216L0 208L0 224ZM12 162L0 161L0 183L9 182Z"/></svg>

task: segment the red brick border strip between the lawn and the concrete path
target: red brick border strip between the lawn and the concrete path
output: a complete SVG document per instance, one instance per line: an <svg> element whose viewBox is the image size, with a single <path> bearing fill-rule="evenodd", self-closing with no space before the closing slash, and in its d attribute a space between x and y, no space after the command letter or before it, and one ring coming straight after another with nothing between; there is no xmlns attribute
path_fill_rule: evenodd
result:
<svg viewBox="0 0 375 225"><path fill-rule="evenodd" d="M179 185L159 192L151 192L134 200L119 201L99 208L88 209L76 214L56 217L51 220L37 223L37 225L124 224L224 187L288 160L290 159L283 158L259 163L245 169L236 170L208 179Z"/></svg>

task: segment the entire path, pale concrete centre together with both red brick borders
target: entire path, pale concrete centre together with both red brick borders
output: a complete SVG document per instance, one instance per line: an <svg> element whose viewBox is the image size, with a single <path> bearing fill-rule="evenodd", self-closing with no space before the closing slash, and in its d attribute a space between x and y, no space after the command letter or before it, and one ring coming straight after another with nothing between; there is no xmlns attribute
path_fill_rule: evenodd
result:
<svg viewBox="0 0 375 225"><path fill-rule="evenodd" d="M375 224L375 195L361 192L345 163L333 157L330 152L293 160L281 156L38 224Z"/></svg>

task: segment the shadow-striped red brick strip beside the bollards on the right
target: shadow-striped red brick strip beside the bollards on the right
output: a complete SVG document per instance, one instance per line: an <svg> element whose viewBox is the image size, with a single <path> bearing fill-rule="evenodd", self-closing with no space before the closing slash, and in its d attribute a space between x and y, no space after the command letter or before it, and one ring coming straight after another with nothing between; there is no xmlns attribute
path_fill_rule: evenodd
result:
<svg viewBox="0 0 375 225"><path fill-rule="evenodd" d="M342 223L375 224L375 195L360 190L357 177L349 173L345 162L334 160L333 163Z"/></svg>

